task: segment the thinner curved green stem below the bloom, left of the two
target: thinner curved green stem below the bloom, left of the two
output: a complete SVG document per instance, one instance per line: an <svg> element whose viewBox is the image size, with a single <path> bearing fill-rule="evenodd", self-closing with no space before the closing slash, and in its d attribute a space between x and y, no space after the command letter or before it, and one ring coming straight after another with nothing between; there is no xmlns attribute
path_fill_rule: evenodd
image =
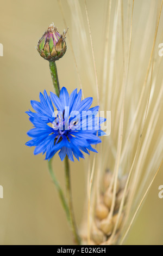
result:
<svg viewBox="0 0 163 256"><path fill-rule="evenodd" d="M70 212L69 212L69 209L68 209L65 197L64 197L64 193L62 192L60 184L57 181L57 178L55 177L53 169L52 169L52 159L50 159L48 161L48 169L49 169L49 174L51 175L52 180L53 180L53 182L55 184L55 187L57 188L57 191L58 191L58 194L59 194L59 197L60 197L60 200L61 200L61 204L64 207L64 210L66 212L67 220L68 220L68 222L71 223L71 221L70 221Z"/></svg>

